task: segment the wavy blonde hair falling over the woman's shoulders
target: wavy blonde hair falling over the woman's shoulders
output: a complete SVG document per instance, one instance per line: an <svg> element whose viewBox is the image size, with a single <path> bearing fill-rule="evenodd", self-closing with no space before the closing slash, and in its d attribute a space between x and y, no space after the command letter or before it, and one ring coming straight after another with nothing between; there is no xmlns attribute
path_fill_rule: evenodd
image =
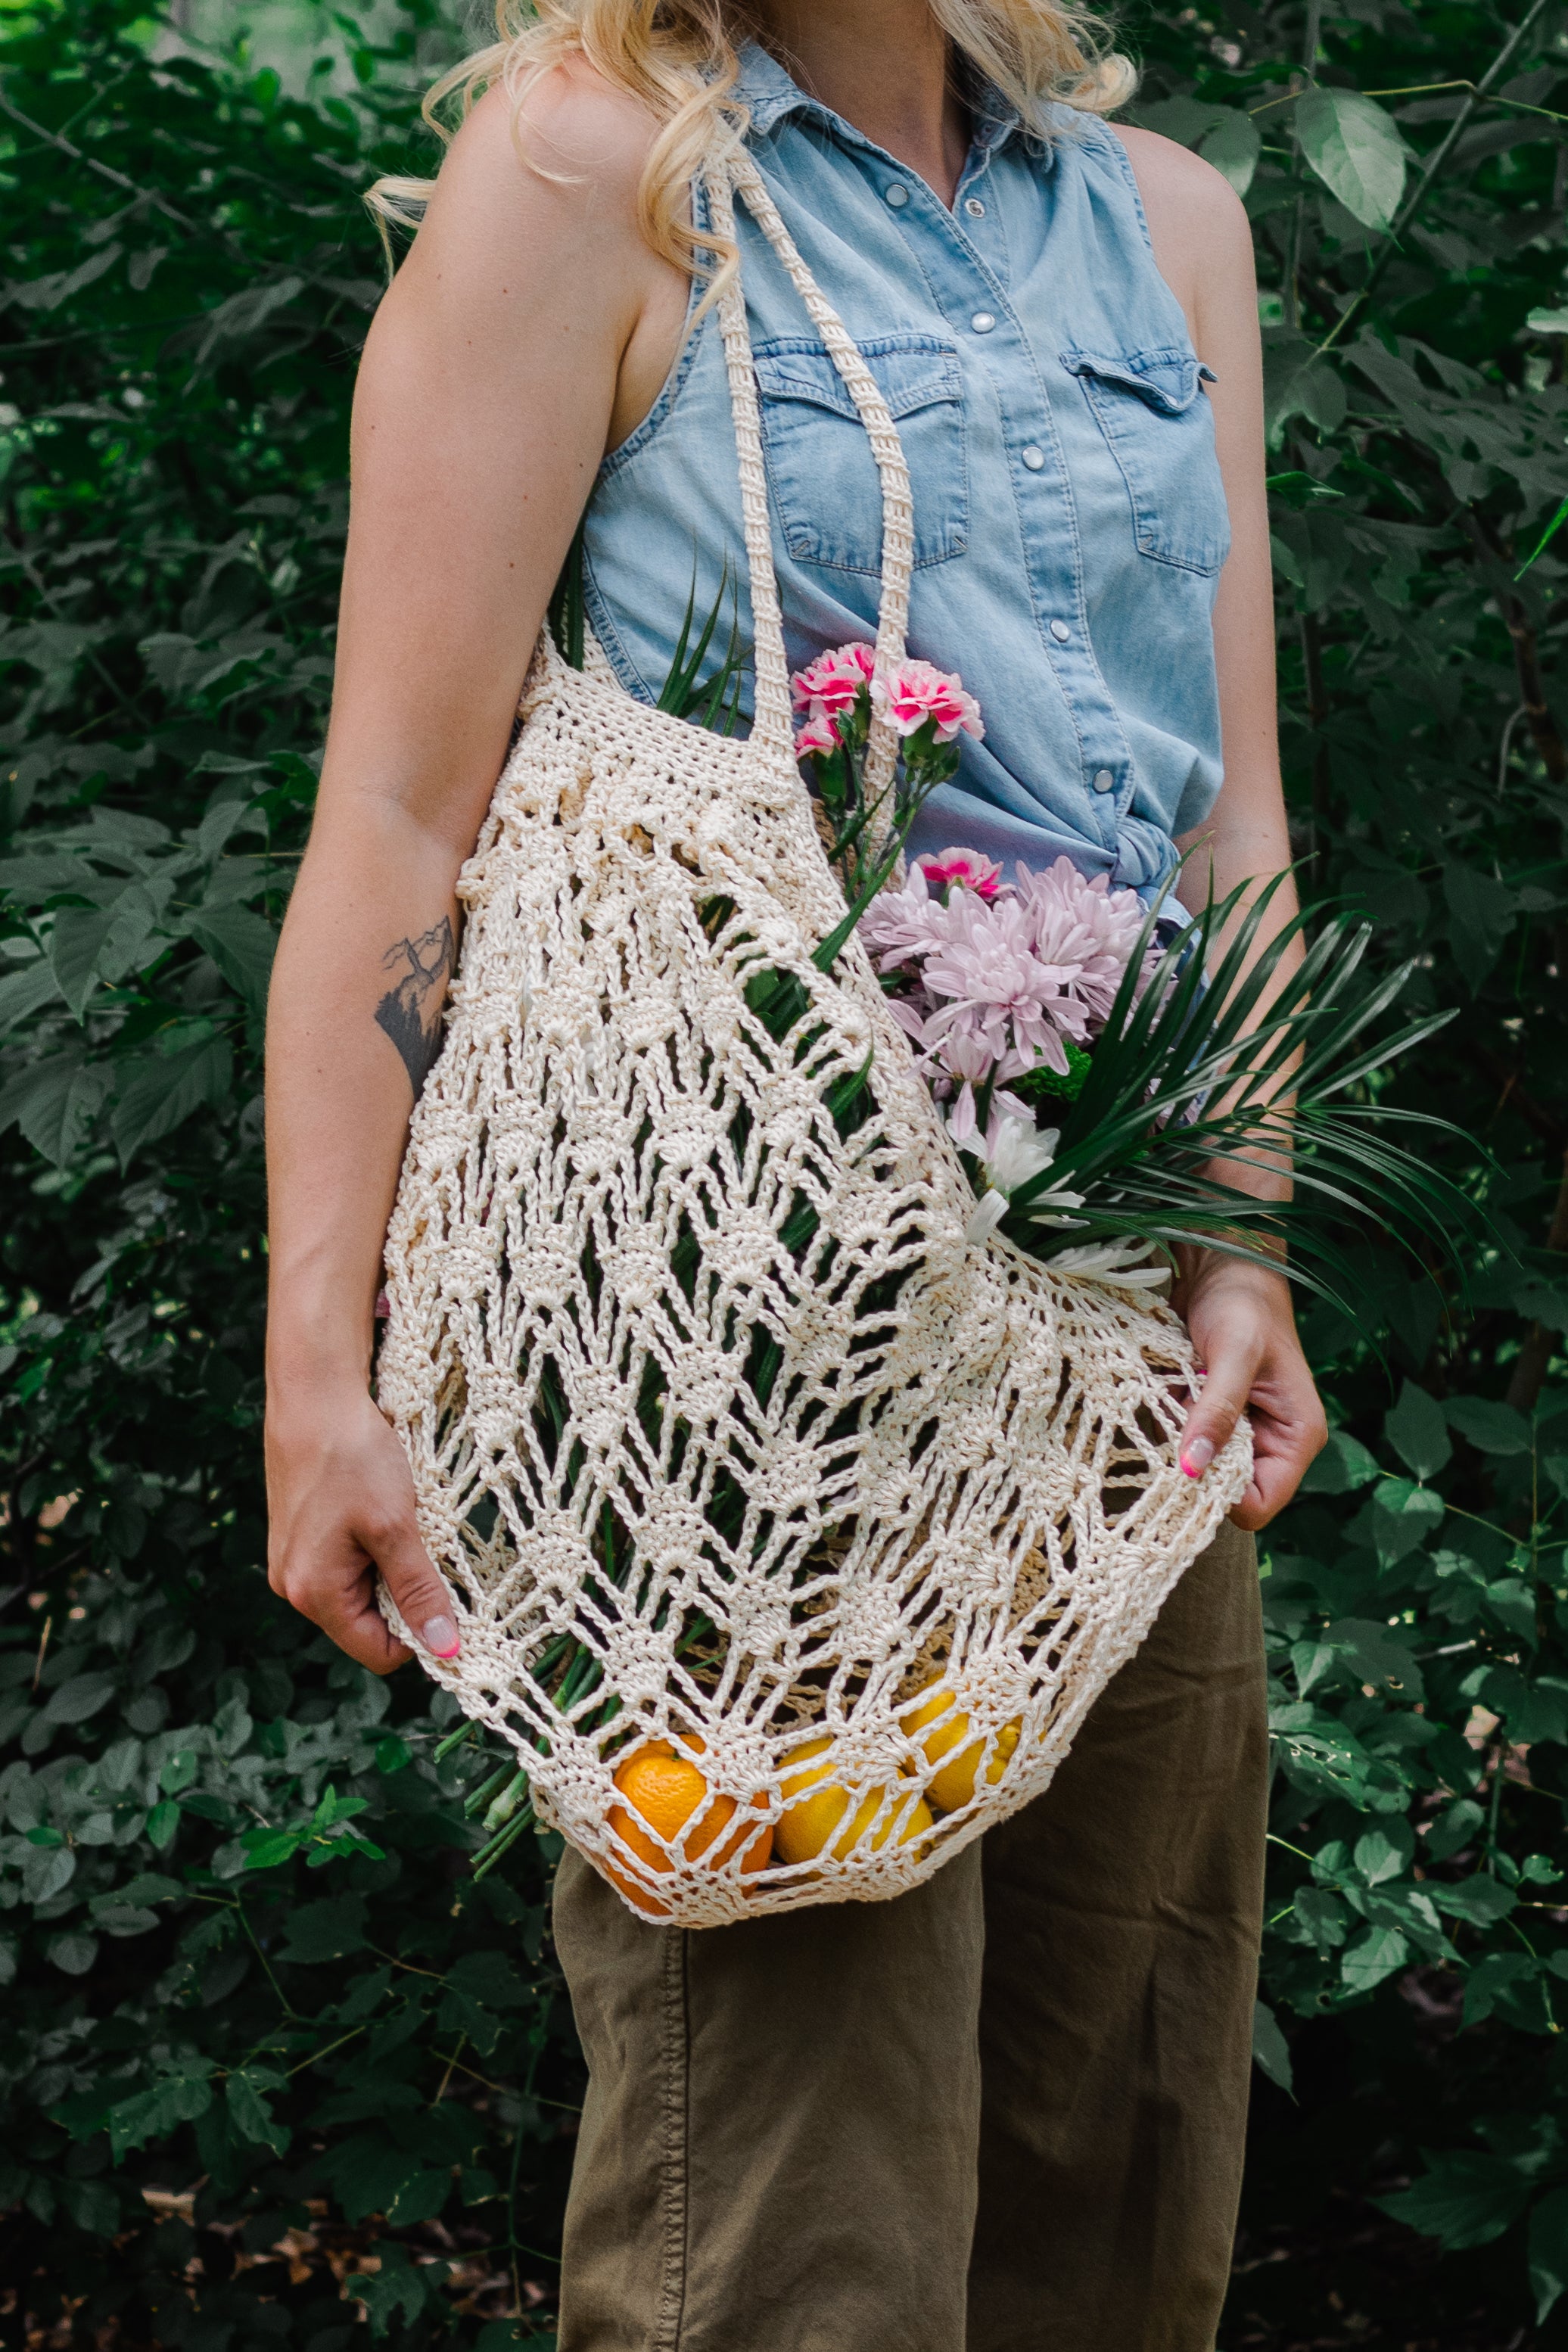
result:
<svg viewBox="0 0 1568 2352"><path fill-rule="evenodd" d="M1105 28L1056 0L929 0L929 7L952 47L1018 108L1027 129L1044 129L1051 103L1098 115L1133 94L1133 66L1110 49ZM581 56L661 125L642 167L637 223L654 252L689 275L710 268L717 252L712 299L733 256L712 230L691 226L689 191L712 146L748 129L748 111L736 96L736 40L762 38L762 28L741 0L496 0L496 33L489 49L428 89L430 129L449 141L454 132L442 108L458 99L461 122L484 89L501 82L512 96L512 136L522 153L529 92L555 66ZM543 169L536 158L524 160ZM367 202L383 238L390 226L418 226L430 188L428 179L376 181Z"/></svg>

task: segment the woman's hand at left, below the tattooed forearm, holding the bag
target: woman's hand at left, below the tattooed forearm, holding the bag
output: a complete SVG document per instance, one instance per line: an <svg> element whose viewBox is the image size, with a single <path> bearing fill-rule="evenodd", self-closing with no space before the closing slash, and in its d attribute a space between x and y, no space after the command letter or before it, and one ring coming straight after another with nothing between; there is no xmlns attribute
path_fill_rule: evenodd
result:
<svg viewBox="0 0 1568 2352"><path fill-rule="evenodd" d="M357 1383L289 1383L268 1404L268 1583L367 1665L390 1675L411 1651L376 1604L376 1576L435 1658L456 1658L451 1597L418 1541L409 1458Z"/></svg>

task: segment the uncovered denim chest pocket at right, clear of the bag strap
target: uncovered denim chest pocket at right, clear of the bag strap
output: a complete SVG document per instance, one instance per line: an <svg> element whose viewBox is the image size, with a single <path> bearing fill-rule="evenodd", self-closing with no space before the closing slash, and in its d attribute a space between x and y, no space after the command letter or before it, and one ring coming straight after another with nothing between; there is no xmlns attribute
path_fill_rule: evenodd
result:
<svg viewBox="0 0 1568 2352"><path fill-rule="evenodd" d="M1121 468L1140 555L1187 572L1218 572L1229 553L1225 482L1213 445L1213 412L1201 388L1213 374L1190 350L1133 350L1105 358L1065 350Z"/></svg>

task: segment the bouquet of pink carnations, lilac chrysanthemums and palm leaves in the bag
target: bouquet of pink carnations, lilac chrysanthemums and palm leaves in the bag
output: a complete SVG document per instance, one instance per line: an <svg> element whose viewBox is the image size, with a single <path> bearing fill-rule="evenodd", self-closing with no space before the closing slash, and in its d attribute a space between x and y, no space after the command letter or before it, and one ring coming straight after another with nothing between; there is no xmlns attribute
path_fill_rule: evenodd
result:
<svg viewBox="0 0 1568 2352"><path fill-rule="evenodd" d="M1291 915L1253 953L1284 875L1190 915L1065 856L1011 882L961 847L898 873L957 736L983 734L978 703L926 661L882 684L870 644L799 670L795 699L849 901L818 960L830 969L858 929L973 1183L971 1240L1004 1232L1058 1272L1133 1291L1168 1279L1178 1244L1204 1244L1286 1263L1345 1303L1347 1221L1406 1240L1474 1223L1455 1185L1387 1138L1392 1120L1446 1124L1380 1105L1375 1073L1450 1016L1371 1035L1413 969L1356 978L1371 924L1331 913L1307 943ZM877 706L903 736L886 816L863 790Z"/></svg>

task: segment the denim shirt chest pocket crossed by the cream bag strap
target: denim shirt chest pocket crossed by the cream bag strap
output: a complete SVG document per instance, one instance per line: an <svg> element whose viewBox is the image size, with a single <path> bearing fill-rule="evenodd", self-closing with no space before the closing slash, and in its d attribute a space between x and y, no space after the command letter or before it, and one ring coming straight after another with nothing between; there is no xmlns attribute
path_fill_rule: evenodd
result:
<svg viewBox="0 0 1568 2352"><path fill-rule="evenodd" d="M884 334L860 343L910 466L914 562L969 546L964 390L952 343ZM882 572L882 480L849 386L823 343L759 343L762 449L790 555L839 572Z"/></svg>

